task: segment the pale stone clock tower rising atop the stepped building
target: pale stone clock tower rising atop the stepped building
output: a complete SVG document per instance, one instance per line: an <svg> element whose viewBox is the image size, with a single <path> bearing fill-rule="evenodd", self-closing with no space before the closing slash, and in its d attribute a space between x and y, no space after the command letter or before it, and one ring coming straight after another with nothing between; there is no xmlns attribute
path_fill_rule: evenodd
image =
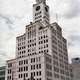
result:
<svg viewBox="0 0 80 80"><path fill-rule="evenodd" d="M49 24L49 6L46 0L36 0L33 5L33 22L42 22L44 26Z"/></svg>

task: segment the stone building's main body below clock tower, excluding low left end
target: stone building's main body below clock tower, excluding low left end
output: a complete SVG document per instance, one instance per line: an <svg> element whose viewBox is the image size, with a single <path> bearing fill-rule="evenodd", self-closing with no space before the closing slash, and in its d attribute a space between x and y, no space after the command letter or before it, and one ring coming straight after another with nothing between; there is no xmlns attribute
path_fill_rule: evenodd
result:
<svg viewBox="0 0 80 80"><path fill-rule="evenodd" d="M31 23L26 26L25 34L16 39L16 78L14 80L23 80L24 77L28 79L31 74L35 80L71 80L67 44L57 23L46 27L40 22ZM45 60L47 55L51 63L46 65L49 61L48 58ZM35 61L37 58L40 58L41 61ZM33 63L31 63L32 59L35 59ZM38 65L41 66L41 69L36 69ZM46 67L49 68L48 71ZM40 75L37 75L38 71Z"/></svg>

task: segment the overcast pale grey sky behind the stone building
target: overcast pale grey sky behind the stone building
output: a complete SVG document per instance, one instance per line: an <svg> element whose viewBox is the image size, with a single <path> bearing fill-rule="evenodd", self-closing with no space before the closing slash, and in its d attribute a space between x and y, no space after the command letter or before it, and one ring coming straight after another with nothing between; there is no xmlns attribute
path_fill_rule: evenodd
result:
<svg viewBox="0 0 80 80"><path fill-rule="evenodd" d="M16 36L24 33L33 21L32 5L35 0L0 0L0 66L15 57ZM68 42L69 60L80 56L80 0L47 0L51 23L62 27Z"/></svg>

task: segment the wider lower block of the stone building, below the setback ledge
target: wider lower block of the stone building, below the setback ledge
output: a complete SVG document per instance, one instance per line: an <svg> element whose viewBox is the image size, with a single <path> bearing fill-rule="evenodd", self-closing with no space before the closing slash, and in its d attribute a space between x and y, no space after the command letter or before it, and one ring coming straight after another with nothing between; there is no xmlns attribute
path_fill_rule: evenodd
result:
<svg viewBox="0 0 80 80"><path fill-rule="evenodd" d="M57 72L57 67L59 66L53 64L53 58L49 54L9 60L7 61L6 80L72 80L69 72L67 75L65 72L60 74Z"/></svg>

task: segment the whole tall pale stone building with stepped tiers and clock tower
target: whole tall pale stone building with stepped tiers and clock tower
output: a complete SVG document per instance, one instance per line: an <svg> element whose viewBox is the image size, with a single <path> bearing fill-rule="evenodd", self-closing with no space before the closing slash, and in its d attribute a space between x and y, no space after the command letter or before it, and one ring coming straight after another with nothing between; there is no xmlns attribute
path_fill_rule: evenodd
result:
<svg viewBox="0 0 80 80"><path fill-rule="evenodd" d="M7 80L72 80L67 41L49 16L46 0L36 0L33 22L16 38L16 58L7 61Z"/></svg>

